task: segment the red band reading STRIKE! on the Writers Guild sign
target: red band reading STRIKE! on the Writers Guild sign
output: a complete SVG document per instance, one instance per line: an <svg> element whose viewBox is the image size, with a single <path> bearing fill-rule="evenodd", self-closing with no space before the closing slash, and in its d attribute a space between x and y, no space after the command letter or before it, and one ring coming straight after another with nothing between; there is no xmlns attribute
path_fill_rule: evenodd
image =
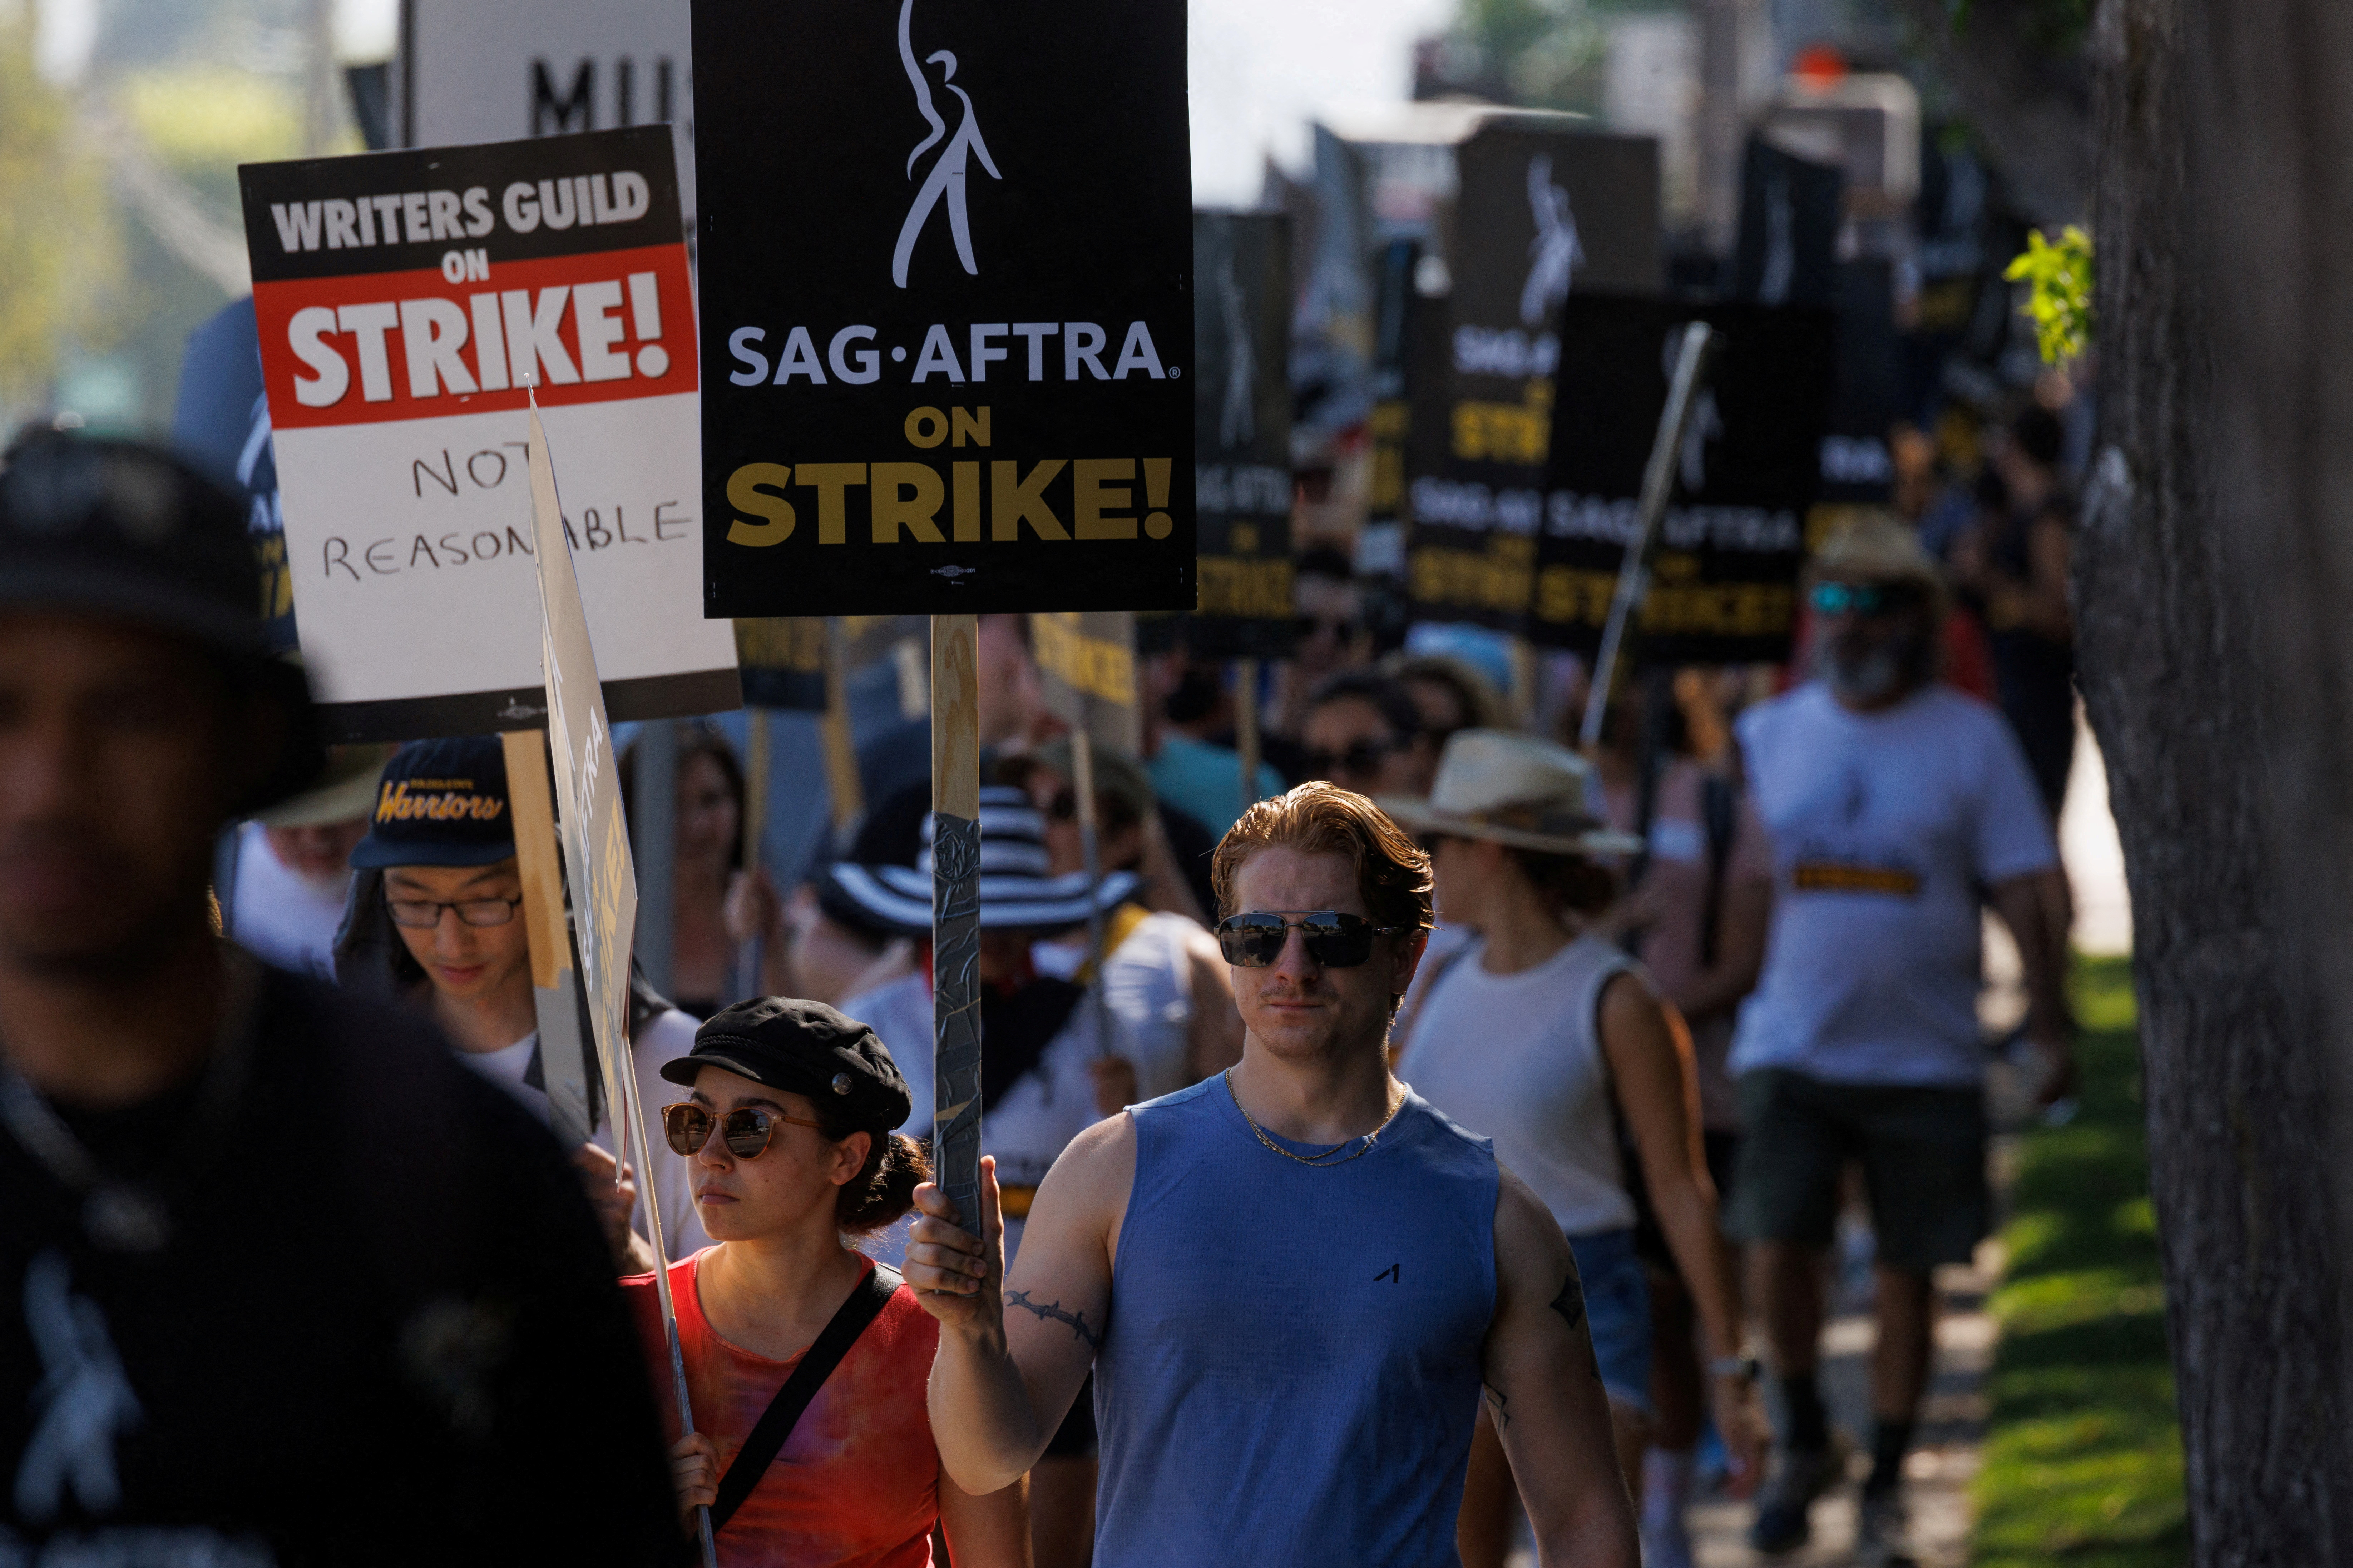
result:
<svg viewBox="0 0 2353 1568"><path fill-rule="evenodd" d="M687 247L256 282L271 425L666 397L699 386Z"/></svg>

